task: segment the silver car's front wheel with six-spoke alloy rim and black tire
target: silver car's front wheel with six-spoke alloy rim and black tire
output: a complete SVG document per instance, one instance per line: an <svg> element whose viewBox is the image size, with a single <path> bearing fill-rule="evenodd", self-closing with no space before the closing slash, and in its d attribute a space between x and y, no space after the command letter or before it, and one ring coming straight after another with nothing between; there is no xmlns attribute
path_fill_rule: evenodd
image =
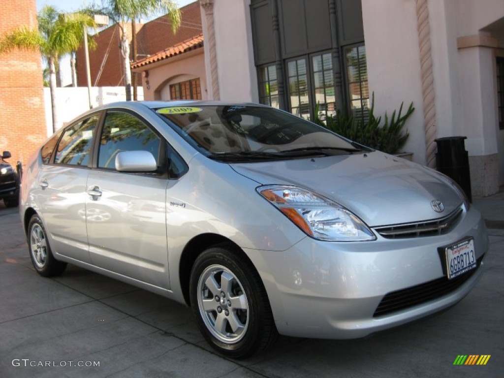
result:
<svg viewBox="0 0 504 378"><path fill-rule="evenodd" d="M228 245L207 249L191 273L191 304L210 345L235 358L269 347L277 330L254 266Z"/></svg>

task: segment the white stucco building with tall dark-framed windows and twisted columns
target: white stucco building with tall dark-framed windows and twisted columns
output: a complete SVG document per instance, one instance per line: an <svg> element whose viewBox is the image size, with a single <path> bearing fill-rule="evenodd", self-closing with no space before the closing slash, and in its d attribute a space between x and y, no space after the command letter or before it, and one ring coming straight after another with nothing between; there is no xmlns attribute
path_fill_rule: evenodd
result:
<svg viewBox="0 0 504 378"><path fill-rule="evenodd" d="M201 0L208 98L304 117L404 102L405 150L434 166L466 136L473 195L504 184L502 0Z"/></svg>

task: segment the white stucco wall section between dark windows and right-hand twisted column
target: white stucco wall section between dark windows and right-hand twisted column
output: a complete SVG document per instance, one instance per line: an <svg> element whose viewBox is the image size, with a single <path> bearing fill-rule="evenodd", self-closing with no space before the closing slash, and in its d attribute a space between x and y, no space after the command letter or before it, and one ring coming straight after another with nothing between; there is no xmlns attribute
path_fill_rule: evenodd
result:
<svg viewBox="0 0 504 378"><path fill-rule="evenodd" d="M420 53L414 1L362 0L369 90L374 92L375 114L389 114L401 102L415 111L406 122L410 134L404 151L425 164ZM405 110L406 110L405 109Z"/></svg>

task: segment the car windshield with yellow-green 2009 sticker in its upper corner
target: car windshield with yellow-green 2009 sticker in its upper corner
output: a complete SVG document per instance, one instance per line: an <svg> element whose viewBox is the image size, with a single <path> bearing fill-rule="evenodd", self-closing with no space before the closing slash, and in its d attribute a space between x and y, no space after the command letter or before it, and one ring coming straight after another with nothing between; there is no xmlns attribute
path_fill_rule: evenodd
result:
<svg viewBox="0 0 504 378"><path fill-rule="evenodd" d="M155 110L196 149L217 160L341 155L362 149L316 124L269 107L203 105Z"/></svg>

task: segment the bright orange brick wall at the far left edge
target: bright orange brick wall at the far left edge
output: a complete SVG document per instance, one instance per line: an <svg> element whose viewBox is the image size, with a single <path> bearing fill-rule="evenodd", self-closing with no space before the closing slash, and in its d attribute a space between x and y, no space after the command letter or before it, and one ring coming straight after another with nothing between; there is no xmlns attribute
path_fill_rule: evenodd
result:
<svg viewBox="0 0 504 378"><path fill-rule="evenodd" d="M2 0L0 38L20 25L37 27L35 0ZM40 52L0 54L0 151L10 151L14 166L47 139Z"/></svg>

